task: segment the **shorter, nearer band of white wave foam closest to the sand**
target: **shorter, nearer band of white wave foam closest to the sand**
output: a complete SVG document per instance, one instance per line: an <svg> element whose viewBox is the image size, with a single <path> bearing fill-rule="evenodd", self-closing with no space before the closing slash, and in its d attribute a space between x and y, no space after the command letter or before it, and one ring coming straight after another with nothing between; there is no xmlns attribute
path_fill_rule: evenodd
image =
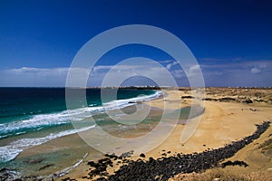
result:
<svg viewBox="0 0 272 181"><path fill-rule="evenodd" d="M11 142L10 144L0 147L0 162L10 161L13 160L17 155L19 155L24 149L31 148L37 145L41 145L45 142L48 142L54 138L60 138L67 135L72 135L77 132L82 132L88 129L95 128L95 125L91 127L86 127L83 129L69 129L64 130L59 133L52 133L43 138L21 138Z"/></svg>

